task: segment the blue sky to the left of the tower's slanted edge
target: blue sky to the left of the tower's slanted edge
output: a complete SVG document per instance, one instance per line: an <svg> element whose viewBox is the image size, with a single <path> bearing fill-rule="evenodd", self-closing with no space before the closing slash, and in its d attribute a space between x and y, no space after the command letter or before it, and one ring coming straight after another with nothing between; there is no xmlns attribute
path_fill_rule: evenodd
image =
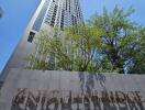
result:
<svg viewBox="0 0 145 110"><path fill-rule="evenodd" d="M15 48L41 0L0 0L0 70Z"/></svg>

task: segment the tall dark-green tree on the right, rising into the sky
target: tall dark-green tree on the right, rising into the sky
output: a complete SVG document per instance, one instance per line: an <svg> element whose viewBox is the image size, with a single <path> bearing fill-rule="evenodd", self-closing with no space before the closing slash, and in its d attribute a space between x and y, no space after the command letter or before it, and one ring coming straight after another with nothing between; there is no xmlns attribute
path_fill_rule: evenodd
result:
<svg viewBox="0 0 145 110"><path fill-rule="evenodd" d="M102 15L94 14L89 20L90 26L104 30L99 47L100 53L120 74L137 72L137 69L133 69L140 65L140 59L144 56L142 51L144 47L141 47L144 45L142 44L144 36L140 31L141 26L129 19L133 12L132 8L125 12L123 8L116 6L112 12L108 12L104 8ZM142 53L138 53L138 51L142 51Z"/></svg>

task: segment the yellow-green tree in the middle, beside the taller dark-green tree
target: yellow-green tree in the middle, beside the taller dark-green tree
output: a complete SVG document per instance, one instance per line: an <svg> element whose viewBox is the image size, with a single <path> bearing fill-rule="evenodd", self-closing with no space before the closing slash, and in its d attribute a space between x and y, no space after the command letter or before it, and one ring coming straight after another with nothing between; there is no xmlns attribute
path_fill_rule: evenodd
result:
<svg viewBox="0 0 145 110"><path fill-rule="evenodd" d="M69 44L69 52L72 55L72 70L96 72L99 58L97 47L100 46L100 35L103 30L88 26L72 26L66 30L65 42ZM66 44L66 45L67 45Z"/></svg>

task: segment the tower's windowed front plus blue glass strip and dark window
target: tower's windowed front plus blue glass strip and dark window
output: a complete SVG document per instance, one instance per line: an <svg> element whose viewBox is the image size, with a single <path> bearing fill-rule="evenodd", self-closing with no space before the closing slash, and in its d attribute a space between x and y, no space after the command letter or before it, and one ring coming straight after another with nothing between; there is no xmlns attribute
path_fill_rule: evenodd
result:
<svg viewBox="0 0 145 110"><path fill-rule="evenodd" d="M29 42L42 29L83 24L79 0L45 0L30 32Z"/></svg>

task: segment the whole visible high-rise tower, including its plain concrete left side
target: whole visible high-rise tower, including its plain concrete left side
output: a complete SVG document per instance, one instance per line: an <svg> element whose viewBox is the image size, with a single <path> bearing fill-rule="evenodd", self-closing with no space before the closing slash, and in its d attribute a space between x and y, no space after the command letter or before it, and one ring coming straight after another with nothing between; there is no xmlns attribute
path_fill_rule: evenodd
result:
<svg viewBox="0 0 145 110"><path fill-rule="evenodd" d="M11 68L25 68L26 56L35 51L34 37L40 30L51 30L57 26L83 24L79 0L42 0L30 21L18 47L3 69L0 81L3 81Z"/></svg>

